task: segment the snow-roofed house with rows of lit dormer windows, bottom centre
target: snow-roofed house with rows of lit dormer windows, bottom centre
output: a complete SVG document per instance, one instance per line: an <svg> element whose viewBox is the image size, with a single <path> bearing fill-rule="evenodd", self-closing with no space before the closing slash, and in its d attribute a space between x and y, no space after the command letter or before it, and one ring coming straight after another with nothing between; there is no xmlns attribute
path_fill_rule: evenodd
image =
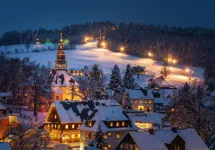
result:
<svg viewBox="0 0 215 150"><path fill-rule="evenodd" d="M89 140L94 140L99 126L104 133L106 145L104 149L115 149L121 139L129 132L137 128L131 122L129 116L122 107L114 101L113 105L98 105L97 109L87 118L79 128L81 133L80 149L88 145Z"/></svg>

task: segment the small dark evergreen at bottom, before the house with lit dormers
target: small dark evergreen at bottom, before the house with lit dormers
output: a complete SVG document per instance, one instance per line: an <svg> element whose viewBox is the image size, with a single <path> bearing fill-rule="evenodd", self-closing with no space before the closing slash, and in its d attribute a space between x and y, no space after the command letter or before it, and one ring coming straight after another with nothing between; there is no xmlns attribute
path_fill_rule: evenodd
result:
<svg viewBox="0 0 215 150"><path fill-rule="evenodd" d="M101 129L101 125L99 124L98 126L98 131L96 132L95 134L95 137L96 137L96 148L99 148L99 149L103 149L104 146L106 145L106 142L105 142L105 139L104 139L104 133Z"/></svg>

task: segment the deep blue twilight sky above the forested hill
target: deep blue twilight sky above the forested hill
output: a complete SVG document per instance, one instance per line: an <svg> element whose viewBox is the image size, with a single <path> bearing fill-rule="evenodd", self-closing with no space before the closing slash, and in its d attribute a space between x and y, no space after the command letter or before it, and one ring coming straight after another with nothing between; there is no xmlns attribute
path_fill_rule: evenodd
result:
<svg viewBox="0 0 215 150"><path fill-rule="evenodd" d="M215 0L1 0L0 35L99 20L215 28Z"/></svg>

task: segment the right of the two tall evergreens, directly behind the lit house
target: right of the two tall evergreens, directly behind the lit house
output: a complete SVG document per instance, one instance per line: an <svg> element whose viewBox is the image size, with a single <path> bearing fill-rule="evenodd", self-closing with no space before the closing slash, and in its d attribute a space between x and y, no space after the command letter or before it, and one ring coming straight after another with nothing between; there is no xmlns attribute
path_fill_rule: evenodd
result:
<svg viewBox="0 0 215 150"><path fill-rule="evenodd" d="M131 66L128 64L123 78L123 87L126 89L134 89L135 82L131 73Z"/></svg>

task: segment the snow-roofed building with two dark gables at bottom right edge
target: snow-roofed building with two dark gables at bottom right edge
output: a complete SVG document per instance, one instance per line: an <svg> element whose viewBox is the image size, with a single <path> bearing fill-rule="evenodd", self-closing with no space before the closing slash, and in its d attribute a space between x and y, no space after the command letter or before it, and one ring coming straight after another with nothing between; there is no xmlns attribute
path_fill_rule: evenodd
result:
<svg viewBox="0 0 215 150"><path fill-rule="evenodd" d="M129 132L116 150L208 150L194 129Z"/></svg>

